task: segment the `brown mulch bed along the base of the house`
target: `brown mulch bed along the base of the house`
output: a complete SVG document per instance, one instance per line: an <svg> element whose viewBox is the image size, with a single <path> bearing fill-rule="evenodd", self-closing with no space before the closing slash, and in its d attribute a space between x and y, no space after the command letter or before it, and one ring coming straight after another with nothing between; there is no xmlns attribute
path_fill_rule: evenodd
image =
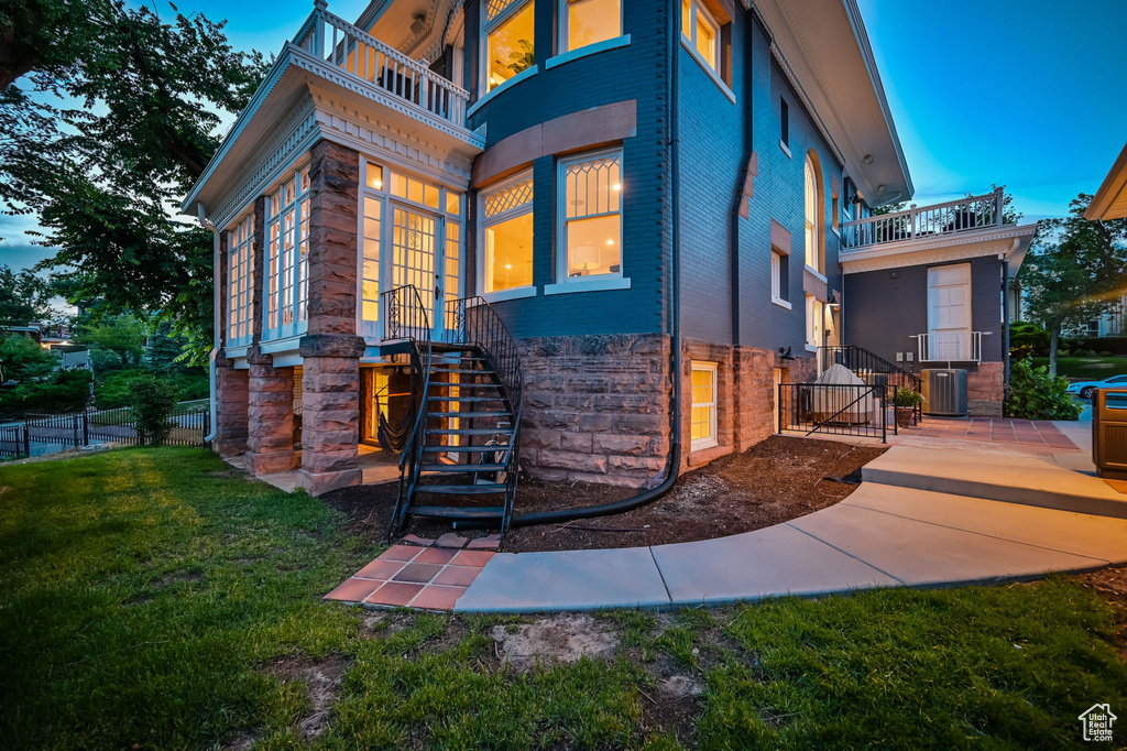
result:
<svg viewBox="0 0 1127 751"><path fill-rule="evenodd" d="M868 443L851 445L773 435L744 453L729 454L682 474L667 495L640 509L612 516L513 528L505 551L644 547L749 532L842 501L860 481L861 467L885 449ZM356 486L328 493L321 500L348 514L357 533L382 539L398 489L396 483ZM527 479L517 491L516 513L593 506L637 493L612 485ZM490 503L482 502L481 496L464 501L465 505ZM444 503L461 505L462 501L451 498ZM451 525L438 520L414 519L406 531L436 538L451 531ZM490 530L456 531L463 537L490 533Z"/></svg>

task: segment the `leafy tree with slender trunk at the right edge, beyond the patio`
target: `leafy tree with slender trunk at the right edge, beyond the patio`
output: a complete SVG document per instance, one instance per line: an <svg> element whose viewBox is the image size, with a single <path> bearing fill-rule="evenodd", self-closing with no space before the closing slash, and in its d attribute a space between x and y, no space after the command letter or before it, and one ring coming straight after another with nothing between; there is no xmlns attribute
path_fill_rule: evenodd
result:
<svg viewBox="0 0 1127 751"><path fill-rule="evenodd" d="M1049 373L1057 372L1061 332L1110 310L1127 281L1127 219L1090 222L1092 196L1073 200L1068 217L1039 222L1018 279L1030 317L1049 332Z"/></svg>

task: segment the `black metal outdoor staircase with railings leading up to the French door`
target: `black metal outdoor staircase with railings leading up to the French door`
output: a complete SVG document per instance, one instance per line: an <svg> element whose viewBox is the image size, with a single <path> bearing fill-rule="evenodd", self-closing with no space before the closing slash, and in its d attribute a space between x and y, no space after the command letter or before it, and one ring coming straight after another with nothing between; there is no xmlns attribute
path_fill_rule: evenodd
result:
<svg viewBox="0 0 1127 751"><path fill-rule="evenodd" d="M504 545L520 471L524 378L516 342L481 298L445 303L442 341L432 337L431 307L417 289L383 298L388 337L410 343L417 385L389 538L411 516L433 516L495 522Z"/></svg>

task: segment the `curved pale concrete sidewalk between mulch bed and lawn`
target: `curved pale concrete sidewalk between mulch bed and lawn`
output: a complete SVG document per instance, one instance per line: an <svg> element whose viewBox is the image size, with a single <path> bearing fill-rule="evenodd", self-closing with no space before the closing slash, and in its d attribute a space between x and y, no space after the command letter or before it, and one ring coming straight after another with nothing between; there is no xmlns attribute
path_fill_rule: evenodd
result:
<svg viewBox="0 0 1127 751"><path fill-rule="evenodd" d="M1083 469L1053 456L893 447L845 501L784 524L650 548L498 554L454 610L711 604L1127 563L1127 496Z"/></svg>

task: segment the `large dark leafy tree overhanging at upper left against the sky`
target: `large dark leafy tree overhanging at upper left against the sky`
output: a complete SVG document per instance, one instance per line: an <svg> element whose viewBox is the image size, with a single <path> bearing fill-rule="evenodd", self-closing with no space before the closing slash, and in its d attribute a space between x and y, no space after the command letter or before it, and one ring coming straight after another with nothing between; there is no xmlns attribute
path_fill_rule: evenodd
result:
<svg viewBox="0 0 1127 751"><path fill-rule="evenodd" d="M0 198L38 213L70 300L172 321L202 360L212 236L174 217L265 64L169 7L0 0Z"/></svg>

